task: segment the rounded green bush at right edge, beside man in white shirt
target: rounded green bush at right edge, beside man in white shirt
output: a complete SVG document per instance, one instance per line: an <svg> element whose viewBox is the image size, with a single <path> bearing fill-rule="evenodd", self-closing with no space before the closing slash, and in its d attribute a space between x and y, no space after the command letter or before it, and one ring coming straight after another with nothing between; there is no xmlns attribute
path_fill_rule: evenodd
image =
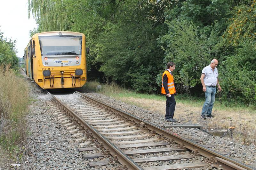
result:
<svg viewBox="0 0 256 170"><path fill-rule="evenodd" d="M245 41L222 63L221 84L227 98L255 104L256 50L255 42Z"/></svg>

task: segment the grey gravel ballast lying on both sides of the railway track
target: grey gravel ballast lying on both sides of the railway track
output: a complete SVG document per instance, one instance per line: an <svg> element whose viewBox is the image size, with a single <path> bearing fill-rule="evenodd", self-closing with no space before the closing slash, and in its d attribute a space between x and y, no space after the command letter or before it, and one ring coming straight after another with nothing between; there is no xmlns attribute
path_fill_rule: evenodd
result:
<svg viewBox="0 0 256 170"><path fill-rule="evenodd" d="M58 123L56 114L53 113L54 111L48 104L51 102L50 97L34 83L28 84L31 86L30 114L28 116L30 134L28 135L28 144L25 148L26 152L20 169L115 169L115 166L112 165L91 168L88 165L88 161L83 159L83 153L77 151L79 143L74 141L72 134L61 123ZM171 124L165 122L164 115L159 113L145 110L102 94L85 94L160 127L163 127L164 124ZM55 110L58 110L57 106ZM180 124L183 124L183 122L180 122ZM200 143L202 145L211 144L213 146L211 149L228 152L228 156L231 158L239 159L247 165L256 167L255 145L241 145L229 138L213 137L204 131L194 128L171 128L168 130L185 138L198 139L202 141ZM156 165L156 163L152 164ZM209 169L209 167L205 168Z"/></svg>

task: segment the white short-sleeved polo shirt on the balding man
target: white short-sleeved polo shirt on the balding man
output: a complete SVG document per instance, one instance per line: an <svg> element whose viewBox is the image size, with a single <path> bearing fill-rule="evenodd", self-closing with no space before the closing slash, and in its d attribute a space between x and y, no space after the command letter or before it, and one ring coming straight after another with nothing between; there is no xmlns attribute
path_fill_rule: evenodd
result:
<svg viewBox="0 0 256 170"><path fill-rule="evenodd" d="M218 80L218 70L215 67L214 71L212 71L212 67L206 66L204 67L202 74L204 74L204 84L205 86L216 86L217 85L217 80Z"/></svg>

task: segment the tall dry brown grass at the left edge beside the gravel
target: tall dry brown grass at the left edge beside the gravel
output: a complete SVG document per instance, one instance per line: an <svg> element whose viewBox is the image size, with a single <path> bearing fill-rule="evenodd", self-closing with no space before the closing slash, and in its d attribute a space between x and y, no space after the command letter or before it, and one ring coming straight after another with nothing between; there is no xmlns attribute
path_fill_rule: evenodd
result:
<svg viewBox="0 0 256 170"><path fill-rule="evenodd" d="M0 67L0 147L8 153L26 141L28 102L25 80L10 67Z"/></svg>

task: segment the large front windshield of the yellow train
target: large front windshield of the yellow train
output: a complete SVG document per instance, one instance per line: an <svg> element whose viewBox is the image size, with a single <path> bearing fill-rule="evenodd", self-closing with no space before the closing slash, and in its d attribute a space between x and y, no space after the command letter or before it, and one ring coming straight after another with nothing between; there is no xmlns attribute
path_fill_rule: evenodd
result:
<svg viewBox="0 0 256 170"><path fill-rule="evenodd" d="M41 55L81 55L82 36L40 36Z"/></svg>

